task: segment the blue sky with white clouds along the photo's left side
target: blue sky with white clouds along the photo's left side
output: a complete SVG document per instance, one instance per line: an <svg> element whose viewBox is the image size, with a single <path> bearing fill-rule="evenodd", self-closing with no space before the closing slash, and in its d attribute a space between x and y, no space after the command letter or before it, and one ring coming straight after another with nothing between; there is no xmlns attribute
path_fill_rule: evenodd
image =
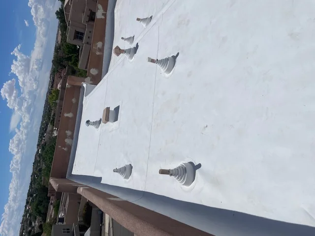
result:
<svg viewBox="0 0 315 236"><path fill-rule="evenodd" d="M0 14L0 235L17 236L54 51L57 0L3 1ZM8 20L9 19L9 20Z"/></svg>

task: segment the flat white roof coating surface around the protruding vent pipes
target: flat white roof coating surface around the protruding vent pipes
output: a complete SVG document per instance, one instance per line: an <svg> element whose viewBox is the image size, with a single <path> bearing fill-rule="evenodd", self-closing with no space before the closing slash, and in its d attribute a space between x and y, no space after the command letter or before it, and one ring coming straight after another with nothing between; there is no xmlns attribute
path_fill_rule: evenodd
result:
<svg viewBox="0 0 315 236"><path fill-rule="evenodd" d="M315 227L315 1L117 0L113 46L132 35L84 98L72 174ZM177 53L170 76L147 62ZM158 174L183 161L193 186Z"/></svg>

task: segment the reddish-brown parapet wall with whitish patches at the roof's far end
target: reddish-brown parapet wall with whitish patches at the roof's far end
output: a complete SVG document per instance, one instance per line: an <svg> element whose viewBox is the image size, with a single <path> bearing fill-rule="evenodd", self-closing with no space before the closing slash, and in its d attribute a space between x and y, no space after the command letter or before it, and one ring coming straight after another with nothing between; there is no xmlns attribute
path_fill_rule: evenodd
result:
<svg viewBox="0 0 315 236"><path fill-rule="evenodd" d="M65 1L65 3L67 3L67 1ZM104 11L106 12L108 0L98 0L97 5L101 9L104 9ZM110 10L109 15L113 17L114 15L113 2L111 2L109 10ZM66 79L62 80L54 124L54 127L59 129L59 132L57 136L56 150L54 154L54 160L52 163L50 177L54 178L66 177L72 142L71 137L75 127L81 84L85 82L91 85L97 85L99 81L102 79L103 59L104 55L108 55L108 53L104 52L106 22L107 22L106 17L98 18L96 17L95 19L94 34L92 40L93 47L90 53L89 66L87 72L88 77L80 78L76 76L68 76L66 77ZM109 53L109 56L111 56L111 52ZM91 70L94 71L94 73L91 73ZM98 73L95 73L95 70L97 70ZM66 74L69 73L66 72ZM62 149L59 147L62 147ZM55 195L56 191L50 184L48 196Z"/></svg>

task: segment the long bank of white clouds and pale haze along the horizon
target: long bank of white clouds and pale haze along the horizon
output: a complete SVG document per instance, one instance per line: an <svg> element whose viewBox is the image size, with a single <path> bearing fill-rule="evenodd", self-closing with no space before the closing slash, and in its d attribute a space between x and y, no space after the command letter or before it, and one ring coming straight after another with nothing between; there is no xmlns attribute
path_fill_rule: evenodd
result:
<svg viewBox="0 0 315 236"><path fill-rule="evenodd" d="M0 91L7 106L13 110L10 129L16 132L9 143L13 154L10 164L12 180L8 203L1 218L1 236L17 236L20 230L46 95L43 91L47 90L57 32L55 11L60 1L29 0L29 6L36 27L34 49L29 56L20 51L21 45L13 50L16 59L12 62L10 76L15 78L5 82ZM29 22L25 21L25 24L28 26ZM20 128L17 129L19 122Z"/></svg>

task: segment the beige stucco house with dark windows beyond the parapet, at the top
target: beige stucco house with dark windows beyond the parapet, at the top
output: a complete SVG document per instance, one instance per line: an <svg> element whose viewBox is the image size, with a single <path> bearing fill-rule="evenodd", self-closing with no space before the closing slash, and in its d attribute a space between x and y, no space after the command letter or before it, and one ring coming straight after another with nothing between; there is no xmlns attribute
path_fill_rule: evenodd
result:
<svg viewBox="0 0 315 236"><path fill-rule="evenodd" d="M68 26L67 43L80 47L79 68L88 68L97 0L65 0L64 17Z"/></svg>

